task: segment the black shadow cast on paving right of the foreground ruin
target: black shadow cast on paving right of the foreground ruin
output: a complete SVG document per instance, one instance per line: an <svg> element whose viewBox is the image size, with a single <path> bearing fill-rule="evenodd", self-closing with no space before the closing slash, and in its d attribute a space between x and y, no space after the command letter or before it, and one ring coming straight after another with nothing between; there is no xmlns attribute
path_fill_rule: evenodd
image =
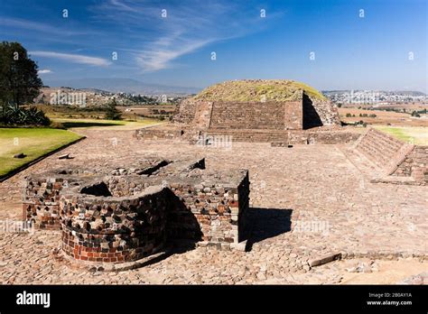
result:
<svg viewBox="0 0 428 314"><path fill-rule="evenodd" d="M282 235L291 230L293 209L249 208L251 230L247 235L246 251L267 238Z"/></svg>

